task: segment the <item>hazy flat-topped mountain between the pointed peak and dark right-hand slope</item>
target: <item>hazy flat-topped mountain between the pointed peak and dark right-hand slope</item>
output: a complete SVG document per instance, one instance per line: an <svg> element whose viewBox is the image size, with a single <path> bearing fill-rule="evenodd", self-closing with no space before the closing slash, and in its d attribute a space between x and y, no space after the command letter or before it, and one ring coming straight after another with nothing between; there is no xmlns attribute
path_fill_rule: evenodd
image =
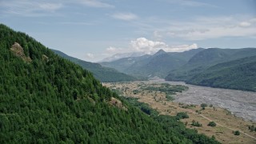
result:
<svg viewBox="0 0 256 144"><path fill-rule="evenodd" d="M177 70L171 70L170 74L166 76L166 80L188 81L190 78L202 73L210 66L214 66L221 62L229 62L235 59L246 58L254 55L256 55L255 48L205 49L197 54L194 54L194 56L190 58L185 65L179 67Z"/></svg>

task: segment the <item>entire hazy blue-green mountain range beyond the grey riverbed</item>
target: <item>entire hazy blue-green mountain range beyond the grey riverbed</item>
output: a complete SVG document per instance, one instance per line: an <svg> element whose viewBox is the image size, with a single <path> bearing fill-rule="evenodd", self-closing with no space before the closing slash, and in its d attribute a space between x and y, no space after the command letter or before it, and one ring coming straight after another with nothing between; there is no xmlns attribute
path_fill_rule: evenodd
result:
<svg viewBox="0 0 256 144"><path fill-rule="evenodd" d="M159 77L194 85L255 91L254 56L256 48L158 50L153 55L120 58L101 64L134 77Z"/></svg>

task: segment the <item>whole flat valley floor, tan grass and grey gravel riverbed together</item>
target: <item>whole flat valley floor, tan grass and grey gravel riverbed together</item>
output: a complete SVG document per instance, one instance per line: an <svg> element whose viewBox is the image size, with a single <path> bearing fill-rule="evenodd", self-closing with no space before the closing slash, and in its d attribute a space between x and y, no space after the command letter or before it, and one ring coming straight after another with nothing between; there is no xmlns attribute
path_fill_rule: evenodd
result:
<svg viewBox="0 0 256 144"><path fill-rule="evenodd" d="M256 93L192 86L183 82L168 82L189 87L189 90L176 94L172 102L166 99L166 93L140 89L143 85L159 86L161 83L166 83L166 81L158 79L148 82L104 83L104 85L112 90L118 90L122 96L138 98L139 102L149 104L160 114L176 115L178 112L186 112L190 118L182 119L182 122L186 123L188 128L197 129L198 133L209 137L214 135L219 142L256 143L256 132L248 130L248 126L256 126L256 104L253 103L256 102ZM202 110L198 106L202 103L213 106ZM242 118L251 121L245 121ZM193 120L200 122L202 126L192 126ZM216 122L217 126L207 126L210 121ZM234 135L235 130L239 130L241 134Z"/></svg>

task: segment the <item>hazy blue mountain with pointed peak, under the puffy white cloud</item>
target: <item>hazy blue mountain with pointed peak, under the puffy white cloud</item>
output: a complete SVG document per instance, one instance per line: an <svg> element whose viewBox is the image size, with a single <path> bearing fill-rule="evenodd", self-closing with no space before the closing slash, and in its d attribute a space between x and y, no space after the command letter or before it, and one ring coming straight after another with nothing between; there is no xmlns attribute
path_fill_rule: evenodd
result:
<svg viewBox="0 0 256 144"><path fill-rule="evenodd" d="M154 55L120 58L113 62L101 62L102 66L112 67L123 73L135 77L166 77L170 70L176 70L184 65L194 54L203 49L188 50L185 52L167 53L159 50Z"/></svg>

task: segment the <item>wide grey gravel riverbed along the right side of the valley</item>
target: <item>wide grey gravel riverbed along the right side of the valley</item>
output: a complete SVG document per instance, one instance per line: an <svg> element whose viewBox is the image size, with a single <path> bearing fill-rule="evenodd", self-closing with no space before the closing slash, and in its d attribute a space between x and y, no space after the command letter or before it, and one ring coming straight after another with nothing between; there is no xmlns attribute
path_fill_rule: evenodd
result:
<svg viewBox="0 0 256 144"><path fill-rule="evenodd" d="M212 104L229 110L235 116L256 122L256 93L242 90L219 89L206 86L194 86L185 82L170 82L155 78L150 82L170 83L188 86L189 90L178 93L174 102L200 105Z"/></svg>

